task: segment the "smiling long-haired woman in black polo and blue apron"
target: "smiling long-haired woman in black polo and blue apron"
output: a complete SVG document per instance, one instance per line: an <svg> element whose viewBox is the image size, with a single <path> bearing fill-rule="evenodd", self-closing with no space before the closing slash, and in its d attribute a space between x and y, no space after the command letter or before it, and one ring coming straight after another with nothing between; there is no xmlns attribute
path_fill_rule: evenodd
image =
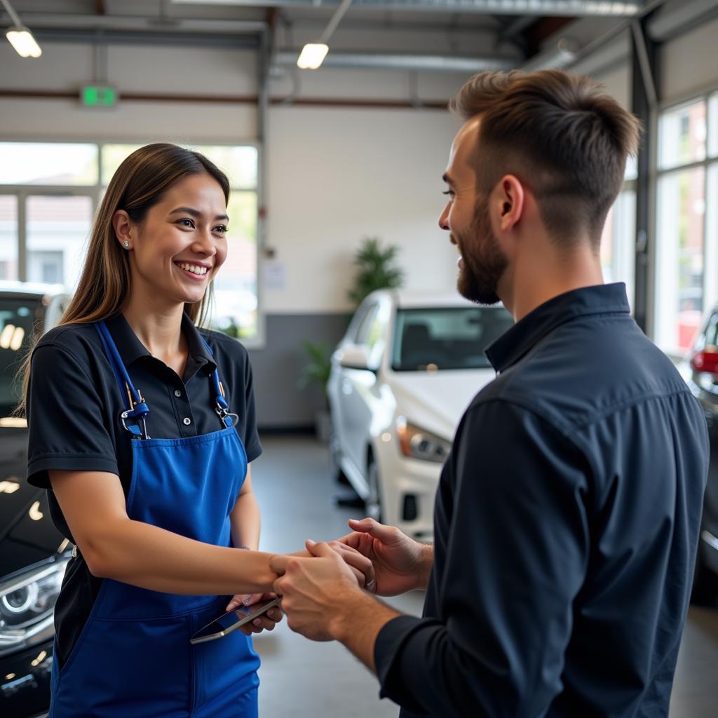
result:
<svg viewBox="0 0 718 718"><path fill-rule="evenodd" d="M251 631L190 637L266 597L246 350L198 330L227 256L229 183L143 147L108 186L73 302L32 353L29 481L77 546L55 609L51 718L257 715ZM249 549L249 550L248 550ZM345 554L355 572L362 557ZM247 597L247 598L246 598Z"/></svg>

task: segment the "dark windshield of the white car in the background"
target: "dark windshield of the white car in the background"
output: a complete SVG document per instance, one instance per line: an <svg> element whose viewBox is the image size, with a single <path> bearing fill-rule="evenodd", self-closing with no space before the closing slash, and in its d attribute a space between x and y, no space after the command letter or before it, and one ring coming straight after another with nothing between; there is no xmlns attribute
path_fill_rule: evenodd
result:
<svg viewBox="0 0 718 718"><path fill-rule="evenodd" d="M503 307L441 307L396 312L391 367L395 371L480 369L484 350L513 325Z"/></svg>

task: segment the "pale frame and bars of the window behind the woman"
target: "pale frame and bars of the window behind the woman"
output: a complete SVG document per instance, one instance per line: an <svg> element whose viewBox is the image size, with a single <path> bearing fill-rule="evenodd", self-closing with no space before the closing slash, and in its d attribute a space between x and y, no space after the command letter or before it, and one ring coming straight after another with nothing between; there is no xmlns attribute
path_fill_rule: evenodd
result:
<svg viewBox="0 0 718 718"><path fill-rule="evenodd" d="M95 144L98 146L98 174L97 182L93 185L0 185L0 195L14 195L18 198L17 208L17 251L18 251L18 281L27 281L27 197L29 195L55 195L58 197L67 196L82 196L90 197L92 201L93 216L97 213L98 206L105 190L106 185L103 185L103 162L102 162L102 149L104 145L112 144L149 144L151 141L157 141L157 139L138 139L136 137L123 137L123 138L107 138L101 139L90 138L90 139L79 139L78 137L53 137L52 139L42 139L39 137L22 137L22 136L6 136L0 134L0 142L15 142L15 143L28 143L28 144ZM257 331L253 337L243 337L238 339L241 344L247 349L261 349L266 345L266 316L264 312L264 297L262 296L262 265L263 265L263 241L265 235L264 225L264 213L261 208L264 207L264 177L261 172L263 169L262 153L264 148L262 144L254 140L236 141L230 139L218 139L218 138L197 138L193 137L191 141L189 139L180 140L168 140L175 141L176 144L181 144L187 147L201 147L201 146L251 146L257 151L257 176L256 185L254 187L231 187L232 192L254 192L257 197L257 217L256 217L256 294L257 294Z"/></svg>

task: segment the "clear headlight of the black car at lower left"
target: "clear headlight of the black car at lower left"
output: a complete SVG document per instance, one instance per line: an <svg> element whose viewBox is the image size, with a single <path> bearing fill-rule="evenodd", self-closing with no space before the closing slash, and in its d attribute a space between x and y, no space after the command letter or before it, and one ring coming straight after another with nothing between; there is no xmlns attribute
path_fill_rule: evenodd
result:
<svg viewBox="0 0 718 718"><path fill-rule="evenodd" d="M58 556L0 584L0 655L52 633L52 612L68 561L69 554Z"/></svg>

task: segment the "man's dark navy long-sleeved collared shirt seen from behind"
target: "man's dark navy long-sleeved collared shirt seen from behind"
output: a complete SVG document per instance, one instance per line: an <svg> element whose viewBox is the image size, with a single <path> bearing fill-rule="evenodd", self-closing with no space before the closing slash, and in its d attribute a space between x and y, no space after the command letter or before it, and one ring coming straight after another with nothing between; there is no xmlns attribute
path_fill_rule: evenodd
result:
<svg viewBox="0 0 718 718"><path fill-rule="evenodd" d="M435 507L424 617L381 630L403 716L668 715L706 421L623 284L535 309L488 350Z"/></svg>

